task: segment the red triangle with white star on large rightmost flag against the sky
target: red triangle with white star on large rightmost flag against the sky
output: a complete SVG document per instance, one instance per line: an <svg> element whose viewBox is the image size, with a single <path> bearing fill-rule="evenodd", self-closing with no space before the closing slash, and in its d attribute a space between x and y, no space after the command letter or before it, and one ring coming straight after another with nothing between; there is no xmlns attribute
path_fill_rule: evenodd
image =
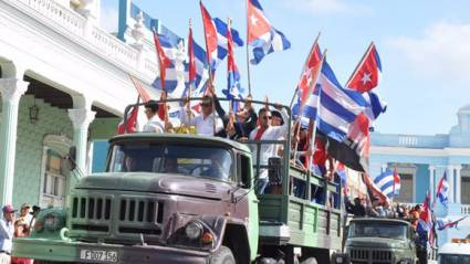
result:
<svg viewBox="0 0 470 264"><path fill-rule="evenodd" d="M370 43L356 71L346 83L345 87L359 93L369 92L378 86L382 74L380 57L374 42Z"/></svg>

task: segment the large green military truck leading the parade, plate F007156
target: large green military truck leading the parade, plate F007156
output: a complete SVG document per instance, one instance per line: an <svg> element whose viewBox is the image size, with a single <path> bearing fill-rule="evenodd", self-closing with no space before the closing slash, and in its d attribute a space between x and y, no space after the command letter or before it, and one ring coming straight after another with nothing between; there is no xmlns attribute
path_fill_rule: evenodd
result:
<svg viewBox="0 0 470 264"><path fill-rule="evenodd" d="M291 165L290 134L243 144L116 136L106 171L80 177L64 209L42 210L12 255L34 263L330 263L342 246L341 190ZM284 147L283 158L262 165L252 157L273 144ZM263 170L271 190L259 194ZM325 204L330 197L336 208Z"/></svg>

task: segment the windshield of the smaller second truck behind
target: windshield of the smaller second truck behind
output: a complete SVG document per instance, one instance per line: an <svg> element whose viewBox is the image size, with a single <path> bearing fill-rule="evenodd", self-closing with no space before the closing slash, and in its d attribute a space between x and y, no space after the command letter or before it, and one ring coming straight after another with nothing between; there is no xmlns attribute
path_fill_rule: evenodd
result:
<svg viewBox="0 0 470 264"><path fill-rule="evenodd" d="M400 223L374 223L374 222L364 222L364 223L352 223L348 230L348 237L387 237L395 240L406 240L407 239L407 225Z"/></svg>

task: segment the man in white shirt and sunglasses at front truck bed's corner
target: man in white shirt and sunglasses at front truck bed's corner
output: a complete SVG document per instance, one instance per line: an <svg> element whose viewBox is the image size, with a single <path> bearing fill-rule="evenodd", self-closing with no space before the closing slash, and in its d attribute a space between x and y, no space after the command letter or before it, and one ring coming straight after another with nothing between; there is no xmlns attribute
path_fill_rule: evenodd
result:
<svg viewBox="0 0 470 264"><path fill-rule="evenodd" d="M280 107L279 107L280 108ZM281 108L282 109L282 108ZM282 119L289 120L289 116L284 110L280 110ZM250 133L250 140L279 140L284 137L289 129L289 122L284 122L281 126L272 126L272 114L267 108L261 108L258 113L260 126ZM253 160L257 160L257 146L251 146ZM271 157L276 157L278 147L275 144L262 144L260 148L260 166L267 166ZM268 169L260 169L257 192L264 193L268 187Z"/></svg>

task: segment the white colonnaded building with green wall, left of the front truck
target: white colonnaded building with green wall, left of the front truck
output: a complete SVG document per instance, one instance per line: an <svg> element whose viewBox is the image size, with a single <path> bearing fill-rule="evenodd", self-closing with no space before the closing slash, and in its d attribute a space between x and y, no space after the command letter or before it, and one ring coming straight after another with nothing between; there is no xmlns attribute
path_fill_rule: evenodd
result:
<svg viewBox="0 0 470 264"><path fill-rule="evenodd" d="M100 28L100 0L0 0L0 204L64 204L94 142L136 102L129 74L147 87L157 76L148 15L119 4L121 39ZM71 146L77 176L64 161Z"/></svg>

